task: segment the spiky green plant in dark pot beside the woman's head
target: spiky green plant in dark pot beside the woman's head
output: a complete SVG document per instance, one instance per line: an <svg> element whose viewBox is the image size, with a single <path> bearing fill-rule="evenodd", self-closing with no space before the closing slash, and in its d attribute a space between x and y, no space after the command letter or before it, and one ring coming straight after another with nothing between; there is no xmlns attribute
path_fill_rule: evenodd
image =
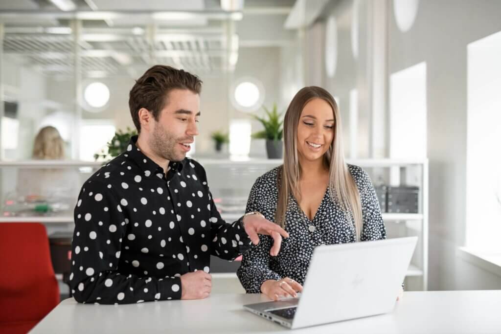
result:
<svg viewBox="0 0 501 334"><path fill-rule="evenodd" d="M268 154L268 159L282 159L283 147L282 147L282 135L284 133L284 120L282 118L283 113L279 113L277 109L277 104L273 104L273 109L269 110L263 106L266 116L259 117L253 115L253 117L263 124L265 130L256 132L252 136L256 139L266 139L266 152Z"/></svg>

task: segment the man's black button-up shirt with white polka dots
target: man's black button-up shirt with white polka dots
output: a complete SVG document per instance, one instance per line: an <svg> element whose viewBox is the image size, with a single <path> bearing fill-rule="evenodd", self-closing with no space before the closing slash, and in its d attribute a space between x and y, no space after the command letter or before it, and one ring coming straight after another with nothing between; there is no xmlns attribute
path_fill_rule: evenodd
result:
<svg viewBox="0 0 501 334"><path fill-rule="evenodd" d="M80 191L70 275L79 302L180 299L180 275L209 272L211 254L233 260L250 244L241 218L221 219L200 164L170 162L164 174L136 141Z"/></svg>

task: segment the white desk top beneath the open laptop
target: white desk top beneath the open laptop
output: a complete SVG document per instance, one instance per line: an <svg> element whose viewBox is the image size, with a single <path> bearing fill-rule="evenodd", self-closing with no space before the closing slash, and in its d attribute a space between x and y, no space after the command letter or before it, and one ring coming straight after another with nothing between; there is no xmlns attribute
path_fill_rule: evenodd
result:
<svg viewBox="0 0 501 334"><path fill-rule="evenodd" d="M129 305L61 302L33 333L501 333L501 290L405 292L392 313L291 331L242 309L260 294Z"/></svg>

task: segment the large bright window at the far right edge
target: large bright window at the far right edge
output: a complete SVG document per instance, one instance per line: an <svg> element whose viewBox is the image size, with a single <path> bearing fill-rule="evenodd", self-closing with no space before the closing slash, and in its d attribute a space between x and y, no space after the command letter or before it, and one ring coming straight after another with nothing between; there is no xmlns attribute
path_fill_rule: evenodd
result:
<svg viewBox="0 0 501 334"><path fill-rule="evenodd" d="M501 32L467 46L466 247L497 254L501 254L499 59Z"/></svg>

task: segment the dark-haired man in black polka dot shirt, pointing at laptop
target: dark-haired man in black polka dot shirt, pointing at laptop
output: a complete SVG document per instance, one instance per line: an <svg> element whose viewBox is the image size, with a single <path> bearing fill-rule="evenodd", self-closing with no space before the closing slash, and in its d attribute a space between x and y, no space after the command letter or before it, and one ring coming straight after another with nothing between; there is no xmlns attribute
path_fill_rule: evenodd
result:
<svg viewBox="0 0 501 334"><path fill-rule="evenodd" d="M198 135L201 81L153 66L130 91L139 133L87 180L75 207L70 285L79 302L205 298L210 255L232 260L258 233L277 255L286 231L259 212L220 217L203 167L185 158Z"/></svg>

